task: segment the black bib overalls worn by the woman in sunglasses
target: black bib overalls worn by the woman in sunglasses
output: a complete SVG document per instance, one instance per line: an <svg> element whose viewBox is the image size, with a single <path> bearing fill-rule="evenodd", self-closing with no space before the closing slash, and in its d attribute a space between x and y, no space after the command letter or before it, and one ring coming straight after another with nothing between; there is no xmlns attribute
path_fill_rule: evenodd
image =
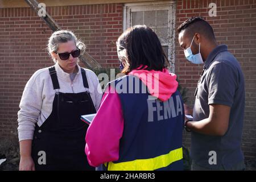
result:
<svg viewBox="0 0 256 182"><path fill-rule="evenodd" d="M53 89L60 89L55 67L49 68ZM81 68L84 87L89 88L85 70ZM32 158L36 170L94 170L85 154L88 124L80 116L96 113L89 92L61 93L56 91L52 113L42 126L36 125L32 141ZM42 152L46 164L38 162ZM38 160L39 159L39 160Z"/></svg>

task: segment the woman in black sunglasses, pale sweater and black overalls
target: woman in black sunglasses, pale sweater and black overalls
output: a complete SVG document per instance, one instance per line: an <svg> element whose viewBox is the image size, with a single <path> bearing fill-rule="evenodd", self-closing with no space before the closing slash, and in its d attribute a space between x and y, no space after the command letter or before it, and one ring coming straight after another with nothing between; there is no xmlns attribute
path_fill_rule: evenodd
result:
<svg viewBox="0 0 256 182"><path fill-rule="evenodd" d="M88 125L101 89L97 76L77 62L85 45L67 30L54 32L48 52L55 65L27 82L18 111L20 170L93 170L84 154Z"/></svg>

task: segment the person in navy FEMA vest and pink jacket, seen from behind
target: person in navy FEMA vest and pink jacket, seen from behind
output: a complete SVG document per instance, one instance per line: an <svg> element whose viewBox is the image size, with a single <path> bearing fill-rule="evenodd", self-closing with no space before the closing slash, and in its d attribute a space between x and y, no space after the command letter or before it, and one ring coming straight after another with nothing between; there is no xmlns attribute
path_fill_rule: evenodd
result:
<svg viewBox="0 0 256 182"><path fill-rule="evenodd" d="M98 170L183 170L183 100L176 75L151 28L117 40L125 76L106 86L86 133L85 153Z"/></svg>

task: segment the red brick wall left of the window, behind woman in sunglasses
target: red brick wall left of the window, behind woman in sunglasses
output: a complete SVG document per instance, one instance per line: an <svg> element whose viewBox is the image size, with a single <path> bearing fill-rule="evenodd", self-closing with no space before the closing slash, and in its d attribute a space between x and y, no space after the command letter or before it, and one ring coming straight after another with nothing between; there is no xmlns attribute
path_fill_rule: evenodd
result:
<svg viewBox="0 0 256 182"><path fill-rule="evenodd" d="M60 27L75 32L102 67L119 67L115 41L122 33L122 4L47 7ZM24 86L53 65L46 52L52 31L30 8L0 9L0 136L16 131Z"/></svg>

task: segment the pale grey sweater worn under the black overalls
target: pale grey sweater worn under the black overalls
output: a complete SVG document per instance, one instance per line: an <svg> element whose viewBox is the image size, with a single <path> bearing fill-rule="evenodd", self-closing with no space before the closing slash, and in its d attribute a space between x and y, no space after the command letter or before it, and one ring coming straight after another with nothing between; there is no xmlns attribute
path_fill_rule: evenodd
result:
<svg viewBox="0 0 256 182"><path fill-rule="evenodd" d="M57 77L60 85L59 92L62 93L80 93L85 92L82 82L81 69L76 74L73 81L69 73L63 71L59 64L55 64ZM95 73L85 69L89 84L89 92L96 110L100 106L102 91ZM39 69L28 80L22 99L20 100L20 110L18 111L18 134L19 141L33 139L35 124L41 126L49 117L52 111L53 99L56 90L53 90L51 76L48 68Z"/></svg>

